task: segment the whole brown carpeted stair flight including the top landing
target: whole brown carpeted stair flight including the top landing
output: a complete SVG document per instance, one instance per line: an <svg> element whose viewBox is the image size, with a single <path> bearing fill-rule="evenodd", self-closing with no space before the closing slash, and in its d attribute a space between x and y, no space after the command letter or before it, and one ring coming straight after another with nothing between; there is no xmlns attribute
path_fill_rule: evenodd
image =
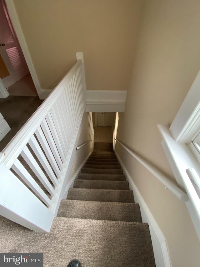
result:
<svg viewBox="0 0 200 267"><path fill-rule="evenodd" d="M64 267L72 259L83 267L155 267L148 224L121 167L111 162L118 163L113 151L93 151L49 234L0 218L0 252L43 252L45 267Z"/></svg>

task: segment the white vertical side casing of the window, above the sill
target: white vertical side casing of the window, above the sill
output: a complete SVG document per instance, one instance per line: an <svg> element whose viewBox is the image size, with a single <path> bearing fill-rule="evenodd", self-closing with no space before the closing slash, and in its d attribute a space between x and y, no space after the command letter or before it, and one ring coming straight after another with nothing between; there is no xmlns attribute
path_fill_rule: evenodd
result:
<svg viewBox="0 0 200 267"><path fill-rule="evenodd" d="M200 131L200 71L183 104L170 126L174 140L180 143L193 141Z"/></svg>

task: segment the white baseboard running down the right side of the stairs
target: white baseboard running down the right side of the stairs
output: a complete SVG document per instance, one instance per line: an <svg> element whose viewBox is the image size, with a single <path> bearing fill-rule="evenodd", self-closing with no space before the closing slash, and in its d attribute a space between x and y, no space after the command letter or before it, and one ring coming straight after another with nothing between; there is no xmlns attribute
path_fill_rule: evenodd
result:
<svg viewBox="0 0 200 267"><path fill-rule="evenodd" d="M115 154L122 166L124 174L127 177L130 190L133 190L135 203L139 203L140 205L143 223L149 224L156 267L171 267L166 239L116 151Z"/></svg>

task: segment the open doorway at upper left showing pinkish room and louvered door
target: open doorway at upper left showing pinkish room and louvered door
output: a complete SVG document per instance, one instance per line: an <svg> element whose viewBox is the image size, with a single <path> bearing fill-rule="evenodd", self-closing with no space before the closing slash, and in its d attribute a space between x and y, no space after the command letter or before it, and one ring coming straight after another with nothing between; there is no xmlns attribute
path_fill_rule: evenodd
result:
<svg viewBox="0 0 200 267"><path fill-rule="evenodd" d="M9 95L38 95L4 0L0 0L0 78Z"/></svg>

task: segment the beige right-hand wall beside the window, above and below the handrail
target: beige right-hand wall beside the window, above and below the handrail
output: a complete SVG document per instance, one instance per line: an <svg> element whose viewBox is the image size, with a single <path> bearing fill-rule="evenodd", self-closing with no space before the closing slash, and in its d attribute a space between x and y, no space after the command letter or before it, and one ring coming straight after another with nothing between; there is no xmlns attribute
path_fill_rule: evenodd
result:
<svg viewBox="0 0 200 267"><path fill-rule="evenodd" d="M200 1L147 0L117 138L173 177L158 124L171 124L200 69ZM200 244L185 204L116 148L167 239L173 267L196 267Z"/></svg>

